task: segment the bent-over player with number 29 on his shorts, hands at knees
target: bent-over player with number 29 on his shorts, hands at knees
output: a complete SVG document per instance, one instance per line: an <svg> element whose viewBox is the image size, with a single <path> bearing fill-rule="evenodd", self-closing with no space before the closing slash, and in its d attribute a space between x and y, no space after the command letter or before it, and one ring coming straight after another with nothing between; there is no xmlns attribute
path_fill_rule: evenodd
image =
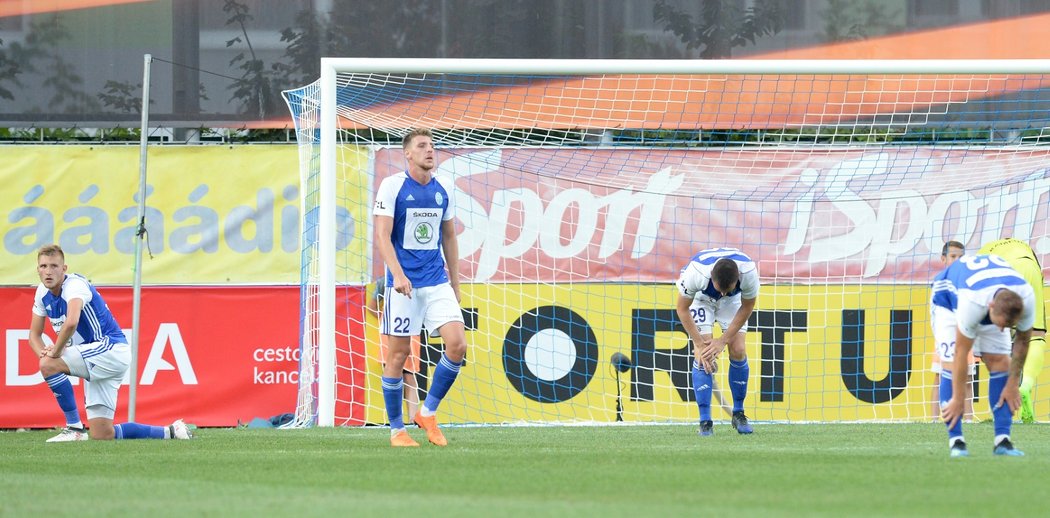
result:
<svg viewBox="0 0 1050 518"><path fill-rule="evenodd" d="M693 341L693 392L700 410L700 435L713 433L711 420L712 373L718 355L729 346L729 385L733 394L733 428L750 434L743 413L748 395L748 318L758 299L758 267L735 248L701 250L681 269L678 277L678 319ZM713 338L715 323L722 334Z"/></svg>

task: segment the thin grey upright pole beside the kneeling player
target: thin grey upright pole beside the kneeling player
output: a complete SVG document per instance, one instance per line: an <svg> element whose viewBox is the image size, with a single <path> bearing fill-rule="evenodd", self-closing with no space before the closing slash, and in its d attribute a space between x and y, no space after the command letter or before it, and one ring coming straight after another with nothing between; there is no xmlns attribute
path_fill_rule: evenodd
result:
<svg viewBox="0 0 1050 518"><path fill-rule="evenodd" d="M139 136L139 228L134 240L134 281L131 294L131 370L128 372L128 420L134 420L135 387L139 385L139 313L142 309L142 241L146 235L146 143L149 141L149 67L151 55L143 55L142 128Z"/></svg>

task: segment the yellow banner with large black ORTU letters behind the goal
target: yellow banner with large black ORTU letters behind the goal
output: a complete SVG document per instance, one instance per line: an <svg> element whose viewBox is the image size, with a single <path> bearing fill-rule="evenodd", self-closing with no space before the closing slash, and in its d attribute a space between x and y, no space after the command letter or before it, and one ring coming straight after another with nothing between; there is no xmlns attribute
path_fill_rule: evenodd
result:
<svg viewBox="0 0 1050 518"><path fill-rule="evenodd" d="M448 422L693 421L691 352L674 316L674 286L464 285L467 364L442 403ZM932 332L924 285L763 287L747 337L753 419L932 420ZM385 422L369 326L366 419ZM716 327L717 329L717 327ZM717 332L716 332L717 334ZM440 338L424 351L426 373ZM424 348L426 349L426 348ZM613 369L623 353L628 370ZM732 395L723 353L717 387ZM987 372L979 374L979 397ZM729 415L712 403L716 419ZM1043 415L1050 402L1043 400ZM986 400L976 405L987 417Z"/></svg>

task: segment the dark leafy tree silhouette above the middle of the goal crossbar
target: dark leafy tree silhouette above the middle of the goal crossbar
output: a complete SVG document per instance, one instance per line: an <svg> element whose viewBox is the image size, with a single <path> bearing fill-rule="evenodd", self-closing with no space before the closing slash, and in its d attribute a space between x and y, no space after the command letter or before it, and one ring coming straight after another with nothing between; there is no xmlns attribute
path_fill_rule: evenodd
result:
<svg viewBox="0 0 1050 518"><path fill-rule="evenodd" d="M754 44L763 36L780 32L780 6L776 0L755 0L746 7L735 0L704 0L696 20L668 0L653 5L653 20L674 33L689 50L700 49L702 59L731 58L733 48Z"/></svg>

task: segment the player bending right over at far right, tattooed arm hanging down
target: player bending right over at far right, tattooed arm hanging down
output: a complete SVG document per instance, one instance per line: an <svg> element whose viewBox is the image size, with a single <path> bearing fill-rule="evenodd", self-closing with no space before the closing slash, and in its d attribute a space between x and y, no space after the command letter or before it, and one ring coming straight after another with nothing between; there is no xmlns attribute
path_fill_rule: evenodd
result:
<svg viewBox="0 0 1050 518"><path fill-rule="evenodd" d="M999 255L965 255L933 277L930 315L941 364L941 417L948 427L952 457L969 455L962 417L970 351L988 368L995 455L1021 456L1010 440L1013 413L1021 407L1021 373L1032 336L1035 297L1032 287ZM1008 328L1014 328L1010 344ZM953 335L953 336L952 336ZM948 369L950 366L950 370Z"/></svg>

